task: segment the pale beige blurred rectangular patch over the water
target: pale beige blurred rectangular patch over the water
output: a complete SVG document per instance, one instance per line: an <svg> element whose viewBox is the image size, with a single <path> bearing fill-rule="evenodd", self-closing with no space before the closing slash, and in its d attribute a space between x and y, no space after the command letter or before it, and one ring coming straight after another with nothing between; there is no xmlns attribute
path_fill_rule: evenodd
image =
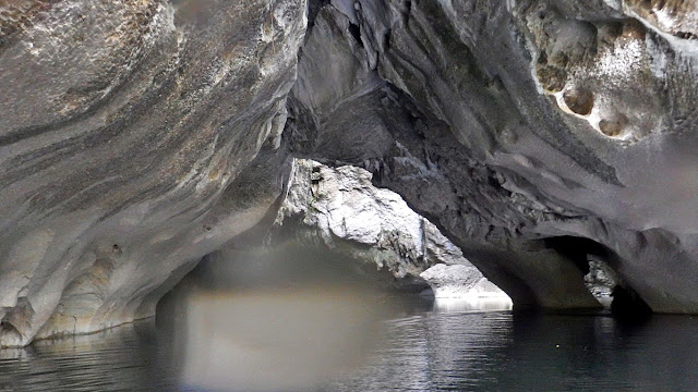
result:
<svg viewBox="0 0 698 392"><path fill-rule="evenodd" d="M186 301L182 379L226 391L306 391L360 363L386 302L305 287L197 293Z"/></svg>

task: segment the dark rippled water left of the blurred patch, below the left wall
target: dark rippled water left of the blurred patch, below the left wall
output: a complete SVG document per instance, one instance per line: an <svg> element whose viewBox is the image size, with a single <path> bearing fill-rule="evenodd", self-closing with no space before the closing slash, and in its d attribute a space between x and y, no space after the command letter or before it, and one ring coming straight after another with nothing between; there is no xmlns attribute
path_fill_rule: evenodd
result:
<svg viewBox="0 0 698 392"><path fill-rule="evenodd" d="M0 391L184 391L157 355L151 321L0 350Z"/></svg>

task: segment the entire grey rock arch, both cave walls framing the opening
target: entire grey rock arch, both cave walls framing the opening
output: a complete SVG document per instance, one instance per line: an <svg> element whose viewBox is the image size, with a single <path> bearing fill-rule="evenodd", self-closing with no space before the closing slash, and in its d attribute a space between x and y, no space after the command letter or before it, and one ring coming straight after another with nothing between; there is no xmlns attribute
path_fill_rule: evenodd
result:
<svg viewBox="0 0 698 392"><path fill-rule="evenodd" d="M0 345L152 314L274 215L289 152L370 171L517 306L598 306L591 257L653 310L698 313L696 14L2 2Z"/></svg>

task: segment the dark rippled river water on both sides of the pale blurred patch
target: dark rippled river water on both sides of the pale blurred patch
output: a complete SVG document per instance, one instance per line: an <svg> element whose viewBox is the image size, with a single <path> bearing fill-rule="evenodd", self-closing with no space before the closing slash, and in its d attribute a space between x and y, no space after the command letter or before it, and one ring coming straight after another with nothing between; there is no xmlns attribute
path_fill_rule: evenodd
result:
<svg viewBox="0 0 698 392"><path fill-rule="evenodd" d="M204 391L181 377L173 319L0 351L0 391ZM426 304L392 313L377 324L384 339L353 368L303 390L698 389L695 317L653 316L625 324L603 315L519 315Z"/></svg>

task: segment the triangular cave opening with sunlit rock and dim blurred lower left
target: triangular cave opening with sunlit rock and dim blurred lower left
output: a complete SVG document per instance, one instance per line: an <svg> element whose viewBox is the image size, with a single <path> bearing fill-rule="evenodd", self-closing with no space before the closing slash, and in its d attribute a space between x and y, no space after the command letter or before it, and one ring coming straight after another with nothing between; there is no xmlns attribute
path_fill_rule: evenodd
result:
<svg viewBox="0 0 698 392"><path fill-rule="evenodd" d="M504 291L366 170L294 159L291 173L272 228L205 257L189 281L213 290L361 283L447 308L512 308Z"/></svg>

